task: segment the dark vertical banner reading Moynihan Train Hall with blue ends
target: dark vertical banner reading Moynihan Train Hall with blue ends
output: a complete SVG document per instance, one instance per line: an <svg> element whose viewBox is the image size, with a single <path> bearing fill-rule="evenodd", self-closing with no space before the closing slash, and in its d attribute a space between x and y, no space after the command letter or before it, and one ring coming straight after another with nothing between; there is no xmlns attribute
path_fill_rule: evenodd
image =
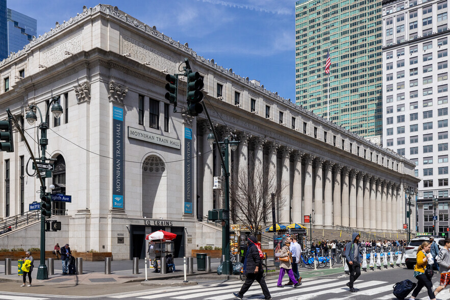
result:
<svg viewBox="0 0 450 300"><path fill-rule="evenodd" d="M123 108L113 106L113 208L123 208Z"/></svg>

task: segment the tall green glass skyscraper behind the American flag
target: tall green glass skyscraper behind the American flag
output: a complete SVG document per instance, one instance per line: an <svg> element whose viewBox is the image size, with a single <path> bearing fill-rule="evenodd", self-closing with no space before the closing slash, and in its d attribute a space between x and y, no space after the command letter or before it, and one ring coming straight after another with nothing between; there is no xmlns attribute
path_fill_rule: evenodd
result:
<svg viewBox="0 0 450 300"><path fill-rule="evenodd" d="M381 0L295 3L296 104L374 142L383 123L381 8Z"/></svg>

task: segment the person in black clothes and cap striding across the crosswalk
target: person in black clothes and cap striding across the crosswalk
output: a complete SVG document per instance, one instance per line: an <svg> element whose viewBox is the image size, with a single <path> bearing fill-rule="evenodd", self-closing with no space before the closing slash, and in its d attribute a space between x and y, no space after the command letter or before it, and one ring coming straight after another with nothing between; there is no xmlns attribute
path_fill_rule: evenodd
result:
<svg viewBox="0 0 450 300"><path fill-rule="evenodd" d="M248 291L248 289L252 286L253 282L256 280L264 294L264 299L269 300L272 297L270 296L269 289L267 288L267 284L263 277L263 268L262 268L262 257L264 254L261 251L261 247L258 245L258 240L255 236L250 236L247 240L247 253L244 259L243 271L247 276L244 284L241 287L241 290L237 293L233 293L233 295L242 299L244 294Z"/></svg>

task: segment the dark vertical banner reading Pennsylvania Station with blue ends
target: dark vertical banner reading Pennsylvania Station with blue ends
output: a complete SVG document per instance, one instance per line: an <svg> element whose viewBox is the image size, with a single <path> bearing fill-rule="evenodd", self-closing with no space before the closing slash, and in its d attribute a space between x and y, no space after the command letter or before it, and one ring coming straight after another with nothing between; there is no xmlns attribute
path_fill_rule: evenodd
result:
<svg viewBox="0 0 450 300"><path fill-rule="evenodd" d="M192 213L192 129L184 129L184 213Z"/></svg>

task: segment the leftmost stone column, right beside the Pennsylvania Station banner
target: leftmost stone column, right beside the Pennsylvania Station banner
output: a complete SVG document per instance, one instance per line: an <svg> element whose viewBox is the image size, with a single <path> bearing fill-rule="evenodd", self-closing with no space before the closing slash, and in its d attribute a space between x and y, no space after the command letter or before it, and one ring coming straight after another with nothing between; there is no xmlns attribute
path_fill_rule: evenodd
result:
<svg viewBox="0 0 450 300"><path fill-rule="evenodd" d="M213 152L208 142L208 132L203 131L203 216L208 217L208 211L213 209Z"/></svg>

